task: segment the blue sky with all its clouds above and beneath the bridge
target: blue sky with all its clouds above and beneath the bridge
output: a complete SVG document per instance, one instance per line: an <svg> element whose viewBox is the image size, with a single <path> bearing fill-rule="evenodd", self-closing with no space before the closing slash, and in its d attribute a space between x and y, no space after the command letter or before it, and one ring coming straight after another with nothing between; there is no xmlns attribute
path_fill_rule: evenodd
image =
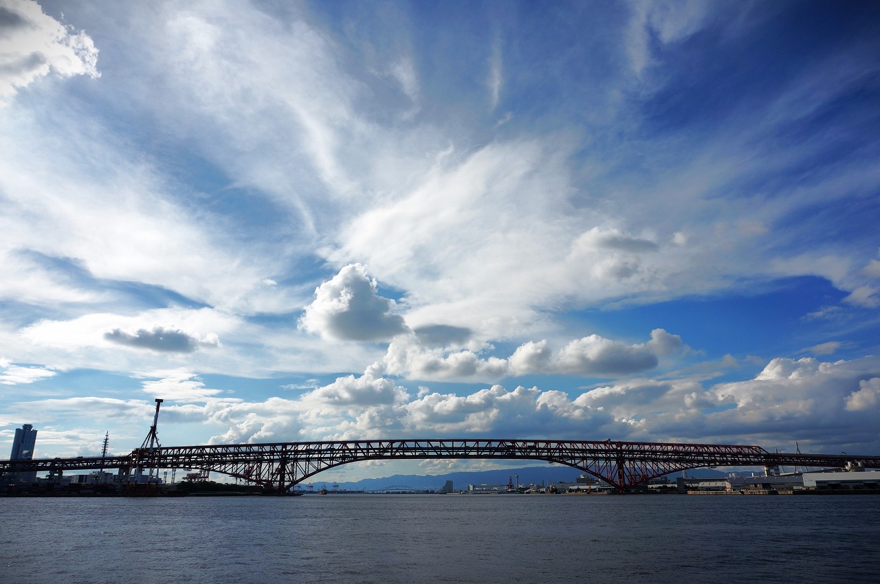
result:
<svg viewBox="0 0 880 584"><path fill-rule="evenodd" d="M875 3L0 0L0 449L880 454L878 103Z"/></svg>

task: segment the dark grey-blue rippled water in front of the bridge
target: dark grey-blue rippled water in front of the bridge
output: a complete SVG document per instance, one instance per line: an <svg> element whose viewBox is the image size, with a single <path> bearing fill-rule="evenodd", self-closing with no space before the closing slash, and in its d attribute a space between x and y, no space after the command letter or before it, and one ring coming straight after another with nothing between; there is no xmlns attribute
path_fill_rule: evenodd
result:
<svg viewBox="0 0 880 584"><path fill-rule="evenodd" d="M880 496L0 499L0 582L880 581Z"/></svg>

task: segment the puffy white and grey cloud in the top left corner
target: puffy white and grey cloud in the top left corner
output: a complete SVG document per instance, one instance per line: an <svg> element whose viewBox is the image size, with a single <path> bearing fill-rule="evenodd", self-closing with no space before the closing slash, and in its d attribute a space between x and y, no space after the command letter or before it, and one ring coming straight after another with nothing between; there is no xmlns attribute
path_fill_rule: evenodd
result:
<svg viewBox="0 0 880 584"><path fill-rule="evenodd" d="M33 0L0 0L0 104L50 72L100 77L98 49L84 31L43 13Z"/></svg>

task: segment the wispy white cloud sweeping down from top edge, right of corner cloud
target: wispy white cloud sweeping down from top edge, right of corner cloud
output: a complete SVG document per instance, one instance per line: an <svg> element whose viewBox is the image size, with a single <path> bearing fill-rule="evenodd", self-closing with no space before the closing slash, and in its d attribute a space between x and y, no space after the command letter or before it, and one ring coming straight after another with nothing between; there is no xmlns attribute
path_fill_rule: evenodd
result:
<svg viewBox="0 0 880 584"><path fill-rule="evenodd" d="M166 131L197 141L237 185L255 186L293 211L302 228L295 237L309 240L324 227L316 211L328 206L338 216L345 209L332 200L356 202L351 165L363 149L375 153L377 142L364 136L370 121L354 111L363 79L348 74L329 35L297 11L290 17L212 2L130 11L136 42L151 47L140 67L147 78L169 81L159 89L136 80L130 98L158 113ZM392 79L417 91L406 60Z"/></svg>

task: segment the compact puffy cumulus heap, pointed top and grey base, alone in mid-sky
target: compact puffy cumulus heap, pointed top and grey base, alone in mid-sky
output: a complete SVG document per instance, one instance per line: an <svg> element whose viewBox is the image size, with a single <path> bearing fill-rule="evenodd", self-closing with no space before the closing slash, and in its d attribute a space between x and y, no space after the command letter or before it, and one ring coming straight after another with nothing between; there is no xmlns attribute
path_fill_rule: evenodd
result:
<svg viewBox="0 0 880 584"><path fill-rule="evenodd" d="M378 296L366 267L349 264L315 290L299 325L323 339L387 340L408 330L403 318L392 314L394 305L392 299Z"/></svg>

